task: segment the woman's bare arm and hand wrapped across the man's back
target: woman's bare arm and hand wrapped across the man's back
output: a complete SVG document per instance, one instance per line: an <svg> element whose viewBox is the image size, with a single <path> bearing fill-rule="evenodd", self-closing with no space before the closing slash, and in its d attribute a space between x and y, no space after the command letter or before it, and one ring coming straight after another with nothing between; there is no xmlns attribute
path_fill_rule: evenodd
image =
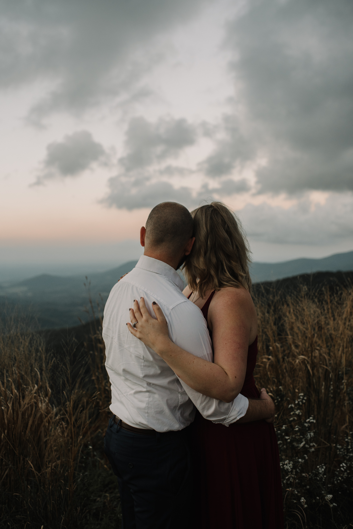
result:
<svg viewBox="0 0 353 529"><path fill-rule="evenodd" d="M138 321L136 329L128 324L136 338L159 354L185 384L199 393L224 402L237 397L244 384L252 331L252 307L246 296L226 293L223 302L219 297L218 303L213 304L216 306L212 330L217 363L205 361L175 345L169 339L168 325L160 307L153 305L155 320L148 313L143 298L140 304L141 310L135 301L130 311L131 322Z"/></svg>

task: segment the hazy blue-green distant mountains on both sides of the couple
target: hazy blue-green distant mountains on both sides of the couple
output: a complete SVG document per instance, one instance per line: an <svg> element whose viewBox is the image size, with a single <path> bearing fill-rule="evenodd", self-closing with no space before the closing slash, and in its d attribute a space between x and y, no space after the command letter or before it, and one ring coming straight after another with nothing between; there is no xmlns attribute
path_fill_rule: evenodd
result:
<svg viewBox="0 0 353 529"><path fill-rule="evenodd" d="M40 276L25 279L8 287L0 285L0 303L33 307L42 328L55 329L77 325L78 318L88 320L84 307L88 306L88 289L95 303L104 304L110 290L120 276L132 270L137 261L128 261L106 272L92 273L88 281L84 276ZM339 253L324 259L295 259L282 263L252 263L250 273L254 283L275 281L287 277L314 272L336 272L353 270L353 251ZM86 287L85 284L86 283ZM103 301L100 299L103 298Z"/></svg>

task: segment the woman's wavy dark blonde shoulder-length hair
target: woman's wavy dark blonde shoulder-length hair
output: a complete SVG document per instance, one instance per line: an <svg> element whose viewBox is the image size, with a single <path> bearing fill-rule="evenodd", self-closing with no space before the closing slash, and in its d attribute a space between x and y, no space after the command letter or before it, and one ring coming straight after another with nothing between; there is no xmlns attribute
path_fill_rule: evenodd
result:
<svg viewBox="0 0 353 529"><path fill-rule="evenodd" d="M183 272L192 291L201 298L209 288L243 286L250 292L250 249L234 213L225 204L212 202L191 215L196 239Z"/></svg>

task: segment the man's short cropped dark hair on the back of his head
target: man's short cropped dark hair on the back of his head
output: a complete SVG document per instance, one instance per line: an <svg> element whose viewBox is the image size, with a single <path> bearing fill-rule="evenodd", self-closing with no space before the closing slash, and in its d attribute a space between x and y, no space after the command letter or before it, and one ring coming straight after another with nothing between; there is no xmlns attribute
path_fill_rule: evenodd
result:
<svg viewBox="0 0 353 529"><path fill-rule="evenodd" d="M157 204L146 221L146 242L154 248L178 251L192 237L192 232L191 213L177 202Z"/></svg>

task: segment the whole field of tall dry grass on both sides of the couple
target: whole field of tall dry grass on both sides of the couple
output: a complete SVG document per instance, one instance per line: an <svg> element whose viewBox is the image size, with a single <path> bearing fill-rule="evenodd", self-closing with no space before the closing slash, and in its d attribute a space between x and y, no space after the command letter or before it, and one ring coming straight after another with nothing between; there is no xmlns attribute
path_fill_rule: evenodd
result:
<svg viewBox="0 0 353 529"><path fill-rule="evenodd" d="M353 290L256 289L255 377L276 402L285 527L353 527ZM0 333L0 526L120 526L103 454L101 325L55 336L26 316Z"/></svg>

